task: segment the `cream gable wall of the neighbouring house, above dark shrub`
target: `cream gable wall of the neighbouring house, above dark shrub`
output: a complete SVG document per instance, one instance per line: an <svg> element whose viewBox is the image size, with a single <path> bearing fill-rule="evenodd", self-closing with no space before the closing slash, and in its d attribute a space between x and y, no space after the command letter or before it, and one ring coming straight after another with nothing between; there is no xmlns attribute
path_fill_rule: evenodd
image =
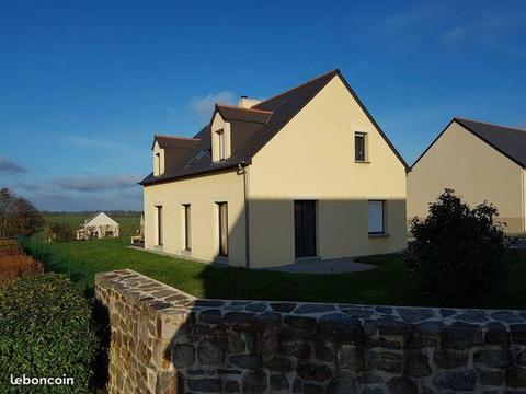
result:
<svg viewBox="0 0 526 394"><path fill-rule="evenodd" d="M408 218L425 217L445 188L492 202L510 232L524 231L524 170L455 121L408 175Z"/></svg>

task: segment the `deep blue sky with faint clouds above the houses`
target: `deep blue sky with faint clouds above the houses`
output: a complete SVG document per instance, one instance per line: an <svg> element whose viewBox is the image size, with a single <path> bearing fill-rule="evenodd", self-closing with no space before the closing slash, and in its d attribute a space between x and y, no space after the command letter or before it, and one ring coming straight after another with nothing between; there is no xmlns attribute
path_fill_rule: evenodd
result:
<svg viewBox="0 0 526 394"><path fill-rule="evenodd" d="M340 68L409 163L453 116L526 128L524 1L0 2L0 186L141 209L153 134Z"/></svg>

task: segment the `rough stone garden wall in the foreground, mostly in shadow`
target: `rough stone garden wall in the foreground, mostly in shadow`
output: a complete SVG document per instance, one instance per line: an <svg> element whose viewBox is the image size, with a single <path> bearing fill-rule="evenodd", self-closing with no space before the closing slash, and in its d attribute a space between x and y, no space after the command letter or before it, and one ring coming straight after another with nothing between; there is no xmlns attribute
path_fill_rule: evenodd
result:
<svg viewBox="0 0 526 394"><path fill-rule="evenodd" d="M96 277L110 393L526 393L526 311L199 300Z"/></svg>

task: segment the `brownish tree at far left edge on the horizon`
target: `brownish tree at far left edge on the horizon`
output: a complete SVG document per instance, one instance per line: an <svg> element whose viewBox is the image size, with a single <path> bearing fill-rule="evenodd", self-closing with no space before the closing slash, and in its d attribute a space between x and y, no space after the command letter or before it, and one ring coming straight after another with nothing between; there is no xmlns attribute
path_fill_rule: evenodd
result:
<svg viewBox="0 0 526 394"><path fill-rule="evenodd" d="M31 236L44 222L33 204L5 187L0 189L0 239Z"/></svg>

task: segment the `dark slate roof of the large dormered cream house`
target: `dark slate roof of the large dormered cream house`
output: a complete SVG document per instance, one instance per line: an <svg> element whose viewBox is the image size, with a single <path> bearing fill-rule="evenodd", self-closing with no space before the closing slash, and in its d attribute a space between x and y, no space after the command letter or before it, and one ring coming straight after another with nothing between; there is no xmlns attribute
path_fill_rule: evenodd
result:
<svg viewBox="0 0 526 394"><path fill-rule="evenodd" d="M402 164L408 167L402 157L397 152L384 131L376 124L375 119L370 116L345 79L341 76L340 70L333 70L261 102L250 109L216 104L214 114L219 112L224 118L230 120L232 141L231 157L221 162L211 161L210 125L207 125L194 136L193 140L199 141L182 161L181 166L172 169L169 172L167 171L167 173L160 176L153 176L153 173L150 173L150 175L142 179L140 184L150 185L159 182L168 182L181 177L232 169L239 164L249 164L254 154L258 153L260 149L262 149L318 94L318 92L329 83L329 81L336 76L341 78L345 86L361 105L362 109L364 109L395 154L399 158Z"/></svg>

